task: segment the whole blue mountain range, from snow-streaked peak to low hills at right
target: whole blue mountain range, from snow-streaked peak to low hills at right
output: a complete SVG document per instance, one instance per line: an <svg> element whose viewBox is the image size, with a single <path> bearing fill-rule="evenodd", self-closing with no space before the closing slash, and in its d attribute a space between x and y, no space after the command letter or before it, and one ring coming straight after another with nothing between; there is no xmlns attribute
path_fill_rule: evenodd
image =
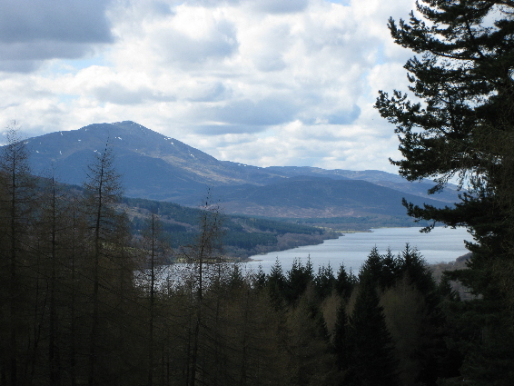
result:
<svg viewBox="0 0 514 386"><path fill-rule="evenodd" d="M430 182L407 183L381 171L314 167L257 167L219 161L182 142L130 121L29 138L35 173L54 170L64 183L83 183L94 152L113 144L125 194L195 206L213 187L227 213L273 217L404 215L402 197L441 206L454 193L426 195ZM438 200L434 200L437 198Z"/></svg>

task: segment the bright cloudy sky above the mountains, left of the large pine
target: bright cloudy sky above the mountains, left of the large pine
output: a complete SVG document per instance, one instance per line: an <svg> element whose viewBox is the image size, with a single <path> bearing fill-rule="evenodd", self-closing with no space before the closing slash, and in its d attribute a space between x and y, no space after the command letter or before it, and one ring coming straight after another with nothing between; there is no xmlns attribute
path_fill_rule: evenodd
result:
<svg viewBox="0 0 514 386"><path fill-rule="evenodd" d="M378 90L411 56L412 0L2 0L0 124L25 136L131 120L221 160L379 169Z"/></svg>

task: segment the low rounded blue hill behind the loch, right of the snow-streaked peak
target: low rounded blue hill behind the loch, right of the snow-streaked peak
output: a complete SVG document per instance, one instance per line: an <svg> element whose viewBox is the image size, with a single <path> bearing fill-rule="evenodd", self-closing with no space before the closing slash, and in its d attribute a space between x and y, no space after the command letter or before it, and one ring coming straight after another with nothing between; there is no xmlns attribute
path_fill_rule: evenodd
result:
<svg viewBox="0 0 514 386"><path fill-rule="evenodd" d="M215 191L216 192L216 191ZM441 206L440 201L400 193L362 180L292 177L265 186L220 187L217 194L228 213L285 218L398 216L405 213L401 199Z"/></svg>

